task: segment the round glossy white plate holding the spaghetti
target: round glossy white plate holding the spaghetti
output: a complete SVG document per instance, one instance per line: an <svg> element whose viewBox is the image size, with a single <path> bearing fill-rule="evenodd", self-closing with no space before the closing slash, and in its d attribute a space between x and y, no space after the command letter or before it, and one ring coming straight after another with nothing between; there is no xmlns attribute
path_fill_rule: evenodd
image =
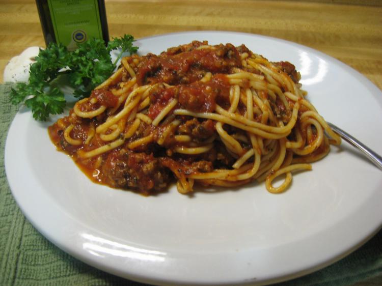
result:
<svg viewBox="0 0 382 286"><path fill-rule="evenodd" d="M192 40L244 43L301 71L321 115L382 154L382 93L341 62L295 43L242 33L190 32L137 41L141 54ZM8 133L8 181L46 238L94 267L147 283L265 284L329 265L382 223L382 173L344 143L296 174L291 188L264 184L194 197L175 188L143 197L93 184L49 140L31 112Z"/></svg>

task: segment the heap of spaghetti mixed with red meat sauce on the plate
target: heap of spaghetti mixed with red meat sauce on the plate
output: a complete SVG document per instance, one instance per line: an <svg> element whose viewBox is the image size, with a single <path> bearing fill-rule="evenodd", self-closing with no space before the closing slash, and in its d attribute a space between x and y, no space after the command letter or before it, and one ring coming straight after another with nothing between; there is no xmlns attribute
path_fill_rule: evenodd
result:
<svg viewBox="0 0 382 286"><path fill-rule="evenodd" d="M132 55L49 135L90 178L112 187L147 195L172 178L180 193L196 183L257 180L280 193L292 171L310 170L341 142L299 78L292 64L269 62L244 45L194 41Z"/></svg>

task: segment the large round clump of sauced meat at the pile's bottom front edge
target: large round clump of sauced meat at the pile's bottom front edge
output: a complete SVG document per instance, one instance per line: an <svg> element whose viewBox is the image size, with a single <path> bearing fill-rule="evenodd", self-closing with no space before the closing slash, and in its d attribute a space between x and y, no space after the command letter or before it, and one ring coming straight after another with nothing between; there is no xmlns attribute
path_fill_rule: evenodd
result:
<svg viewBox="0 0 382 286"><path fill-rule="evenodd" d="M102 165L103 177L112 187L138 189L144 192L161 191L169 182L169 172L152 154L110 153Z"/></svg>

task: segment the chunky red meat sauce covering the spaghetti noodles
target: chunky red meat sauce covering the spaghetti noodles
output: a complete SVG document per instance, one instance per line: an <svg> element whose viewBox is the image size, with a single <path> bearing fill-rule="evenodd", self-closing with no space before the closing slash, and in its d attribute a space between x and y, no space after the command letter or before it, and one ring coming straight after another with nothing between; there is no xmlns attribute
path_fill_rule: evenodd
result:
<svg viewBox="0 0 382 286"><path fill-rule="evenodd" d="M233 68L242 68L239 51L250 51L243 45L235 48L231 44L217 45L212 49L199 49L206 44L207 42L194 41L170 48L160 55L148 54L140 58L139 64L133 68L138 85L158 83L149 94L150 106L146 112L149 118L152 120L156 118L174 98L178 100L174 109L184 108L193 112L214 112L217 104L224 108L230 105L230 84L225 74L231 73ZM294 66L292 68L284 63L280 65L297 79ZM211 80L200 81L208 72L212 73ZM127 80L128 74L123 73L123 79ZM92 111L101 105L116 108L118 97L108 90L95 90L90 95L88 103L82 104L80 109ZM162 145L158 145L156 139L161 136L166 126L155 127L142 122L140 128L131 138L126 139L123 145L88 159L80 158L77 152L88 152L105 145L96 132L90 144L85 144L85 141L92 130L105 122L106 116L79 118L71 110L69 116L50 126L48 131L54 145L71 156L92 181L120 189L133 189L148 195L165 190L173 181L173 174L181 176L181 174L208 172L216 167L230 168L235 161L219 142L216 148L205 154L174 153L172 150L176 147L177 141L173 138L176 135L188 135L192 137L193 142L199 143L216 133L215 123L211 120L185 116L177 118L181 124L170 132L169 139ZM127 123L125 130L128 130L131 124ZM81 144L71 145L65 140L64 130L70 125L74 126L70 137L79 140ZM151 144L134 151L127 148L133 140L150 134L154 136L154 142Z"/></svg>

